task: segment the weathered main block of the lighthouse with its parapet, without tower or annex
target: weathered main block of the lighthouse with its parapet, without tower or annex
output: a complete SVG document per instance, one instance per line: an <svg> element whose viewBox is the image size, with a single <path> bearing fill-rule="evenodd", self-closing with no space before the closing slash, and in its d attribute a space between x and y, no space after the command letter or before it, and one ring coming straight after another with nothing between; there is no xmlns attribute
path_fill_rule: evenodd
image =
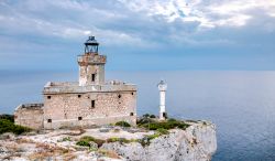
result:
<svg viewBox="0 0 275 161"><path fill-rule="evenodd" d="M134 125L135 105L133 85L45 86L44 127L106 125L118 120Z"/></svg>

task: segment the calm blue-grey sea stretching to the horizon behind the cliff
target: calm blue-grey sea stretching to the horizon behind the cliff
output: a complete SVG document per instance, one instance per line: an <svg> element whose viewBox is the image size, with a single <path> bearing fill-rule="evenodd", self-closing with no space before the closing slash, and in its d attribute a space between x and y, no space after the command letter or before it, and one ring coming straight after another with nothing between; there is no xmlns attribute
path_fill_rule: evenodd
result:
<svg viewBox="0 0 275 161"><path fill-rule="evenodd" d="M167 111L217 125L213 161L275 160L275 72L108 72L138 84L138 112L158 112L156 84L168 84ZM0 112L41 101L47 80L77 80L77 72L0 72Z"/></svg>

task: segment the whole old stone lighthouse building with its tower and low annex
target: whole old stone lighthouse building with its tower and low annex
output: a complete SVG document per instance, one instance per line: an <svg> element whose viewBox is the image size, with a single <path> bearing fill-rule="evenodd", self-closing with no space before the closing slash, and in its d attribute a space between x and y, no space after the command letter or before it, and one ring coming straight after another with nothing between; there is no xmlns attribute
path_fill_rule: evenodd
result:
<svg viewBox="0 0 275 161"><path fill-rule="evenodd" d="M136 121L136 86L105 80L106 55L98 53L99 43L90 36L85 53L77 57L79 80L48 82L43 89L44 104L20 105L15 124L33 129L89 127L117 121Z"/></svg>

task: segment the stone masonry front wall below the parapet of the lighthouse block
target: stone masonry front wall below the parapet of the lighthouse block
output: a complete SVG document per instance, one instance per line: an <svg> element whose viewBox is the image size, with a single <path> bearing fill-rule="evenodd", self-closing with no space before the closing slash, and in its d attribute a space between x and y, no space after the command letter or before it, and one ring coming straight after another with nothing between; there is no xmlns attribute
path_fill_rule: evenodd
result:
<svg viewBox="0 0 275 161"><path fill-rule="evenodd" d="M135 125L135 106L136 92L45 95L44 127L107 125L119 120Z"/></svg>

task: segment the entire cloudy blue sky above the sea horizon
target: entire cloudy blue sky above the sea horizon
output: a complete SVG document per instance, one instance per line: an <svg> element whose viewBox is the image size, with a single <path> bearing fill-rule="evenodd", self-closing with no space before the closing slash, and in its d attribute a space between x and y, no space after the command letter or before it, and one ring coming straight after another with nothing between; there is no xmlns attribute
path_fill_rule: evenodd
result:
<svg viewBox="0 0 275 161"><path fill-rule="evenodd" d="M0 0L0 71L273 71L275 0Z"/></svg>

